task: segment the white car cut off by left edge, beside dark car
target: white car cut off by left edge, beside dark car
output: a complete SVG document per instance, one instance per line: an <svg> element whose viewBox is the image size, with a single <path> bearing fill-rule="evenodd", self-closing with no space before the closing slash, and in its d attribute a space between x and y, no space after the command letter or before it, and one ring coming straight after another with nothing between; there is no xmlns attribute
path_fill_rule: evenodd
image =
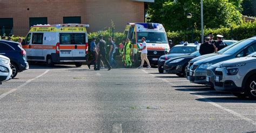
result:
<svg viewBox="0 0 256 133"><path fill-rule="evenodd" d="M10 67L10 59L0 55L0 84L11 78L12 70Z"/></svg>

